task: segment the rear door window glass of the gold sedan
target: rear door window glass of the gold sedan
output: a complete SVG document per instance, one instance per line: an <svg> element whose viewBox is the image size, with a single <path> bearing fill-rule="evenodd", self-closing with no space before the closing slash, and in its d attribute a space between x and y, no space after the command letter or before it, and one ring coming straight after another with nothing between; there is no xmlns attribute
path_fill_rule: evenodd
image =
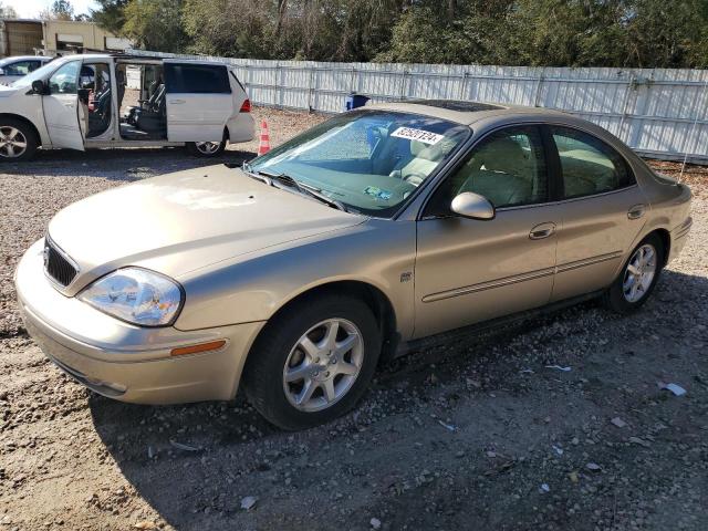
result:
<svg viewBox="0 0 708 531"><path fill-rule="evenodd" d="M587 133L551 127L563 174L563 196L592 196L634 184L625 159L604 142Z"/></svg>

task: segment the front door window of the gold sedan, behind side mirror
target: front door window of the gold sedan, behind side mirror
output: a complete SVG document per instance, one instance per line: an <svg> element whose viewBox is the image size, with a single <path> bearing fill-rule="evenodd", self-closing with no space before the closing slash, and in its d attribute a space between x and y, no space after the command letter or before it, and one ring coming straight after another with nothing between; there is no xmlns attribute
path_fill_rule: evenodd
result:
<svg viewBox="0 0 708 531"><path fill-rule="evenodd" d="M426 216L449 216L452 199L465 191L486 197L494 208L545 202L548 173L538 128L506 128L483 138L436 191Z"/></svg>

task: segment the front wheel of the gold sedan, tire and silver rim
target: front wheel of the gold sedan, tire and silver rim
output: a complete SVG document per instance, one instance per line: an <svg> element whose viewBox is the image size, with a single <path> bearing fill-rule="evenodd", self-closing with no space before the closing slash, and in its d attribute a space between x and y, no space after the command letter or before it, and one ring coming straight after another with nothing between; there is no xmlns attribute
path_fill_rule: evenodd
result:
<svg viewBox="0 0 708 531"><path fill-rule="evenodd" d="M334 322L339 323L336 343L347 342L339 353L326 341ZM358 341L352 340L356 335ZM305 336L311 341L305 342L310 354L302 347ZM246 396L280 428L319 426L354 407L376 371L379 354L378 324L363 301L336 294L308 298L268 323L259 336L243 373Z"/></svg>

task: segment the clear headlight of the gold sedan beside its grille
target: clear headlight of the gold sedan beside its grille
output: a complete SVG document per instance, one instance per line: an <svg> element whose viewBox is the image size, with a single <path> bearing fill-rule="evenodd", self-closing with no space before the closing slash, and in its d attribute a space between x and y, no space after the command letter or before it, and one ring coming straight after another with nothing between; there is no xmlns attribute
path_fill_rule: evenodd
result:
<svg viewBox="0 0 708 531"><path fill-rule="evenodd" d="M79 299L104 313L143 326L171 324L183 302L174 280L139 268L118 269L86 288Z"/></svg>

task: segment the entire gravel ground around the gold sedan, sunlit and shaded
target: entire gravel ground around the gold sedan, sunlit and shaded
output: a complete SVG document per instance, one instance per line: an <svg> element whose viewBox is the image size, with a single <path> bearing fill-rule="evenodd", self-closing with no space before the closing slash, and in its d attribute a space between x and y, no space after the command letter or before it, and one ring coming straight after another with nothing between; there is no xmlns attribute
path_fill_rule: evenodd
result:
<svg viewBox="0 0 708 531"><path fill-rule="evenodd" d="M272 144L322 119L257 116ZM256 143L240 149L225 160ZM93 395L17 313L12 271L56 210L205 164L123 149L1 168L0 530L708 529L707 168L685 175L690 239L637 314L586 303L413 354L345 418L287 434L242 397L147 407Z"/></svg>

